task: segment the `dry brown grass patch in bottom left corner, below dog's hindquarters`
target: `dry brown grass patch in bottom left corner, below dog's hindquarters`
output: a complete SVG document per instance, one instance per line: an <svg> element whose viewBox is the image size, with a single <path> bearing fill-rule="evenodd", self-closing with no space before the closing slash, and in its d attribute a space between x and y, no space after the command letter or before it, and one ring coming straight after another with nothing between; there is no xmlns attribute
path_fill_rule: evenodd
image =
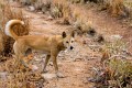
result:
<svg viewBox="0 0 132 88"><path fill-rule="evenodd" d="M0 88L42 88L44 78L41 72L29 72L14 67L15 59L1 63Z"/></svg>

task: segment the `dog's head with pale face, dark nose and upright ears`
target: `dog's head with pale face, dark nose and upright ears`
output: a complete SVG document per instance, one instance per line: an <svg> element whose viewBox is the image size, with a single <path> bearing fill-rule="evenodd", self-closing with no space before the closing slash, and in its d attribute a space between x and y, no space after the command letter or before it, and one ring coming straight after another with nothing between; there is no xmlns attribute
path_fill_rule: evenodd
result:
<svg viewBox="0 0 132 88"><path fill-rule="evenodd" d="M75 33L72 32L67 34L66 32L63 32L62 36L63 36L63 44L66 47L66 50L70 50L70 51L74 50Z"/></svg>

